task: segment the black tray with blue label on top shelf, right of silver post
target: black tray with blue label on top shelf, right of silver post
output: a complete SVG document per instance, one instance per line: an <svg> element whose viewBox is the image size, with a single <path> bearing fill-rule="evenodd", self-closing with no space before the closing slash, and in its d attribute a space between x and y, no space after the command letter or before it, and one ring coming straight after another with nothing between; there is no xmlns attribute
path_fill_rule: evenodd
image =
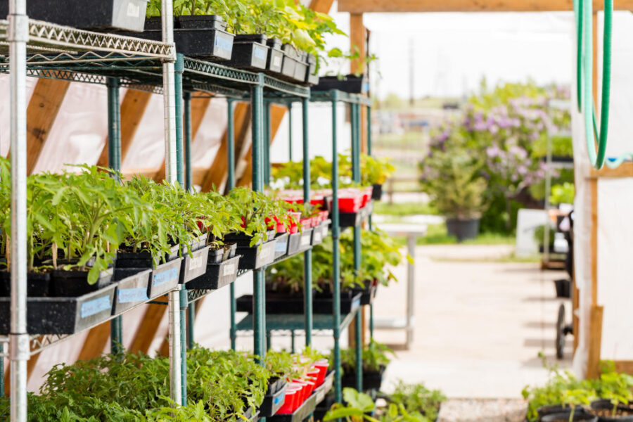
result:
<svg viewBox="0 0 633 422"><path fill-rule="evenodd" d="M162 40L160 17L148 18L142 34L129 34ZM217 15L179 16L174 21L174 43L176 51L185 56L205 60L230 60L233 54L234 34L226 32L226 23ZM124 34L128 35L128 34Z"/></svg>

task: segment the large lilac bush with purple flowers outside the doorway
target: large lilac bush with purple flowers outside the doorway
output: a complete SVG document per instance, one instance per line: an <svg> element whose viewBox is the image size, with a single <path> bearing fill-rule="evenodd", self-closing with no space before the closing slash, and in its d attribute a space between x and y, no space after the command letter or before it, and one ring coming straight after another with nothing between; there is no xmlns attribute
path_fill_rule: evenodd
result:
<svg viewBox="0 0 633 422"><path fill-rule="evenodd" d="M421 183L437 209L453 218L480 215L482 231L512 231L518 208L537 206L544 194L536 192L545 177L548 129L570 127L569 111L547 112L547 101L569 96L564 87L528 83L502 84L470 98L461 115L435 130L420 164Z"/></svg>

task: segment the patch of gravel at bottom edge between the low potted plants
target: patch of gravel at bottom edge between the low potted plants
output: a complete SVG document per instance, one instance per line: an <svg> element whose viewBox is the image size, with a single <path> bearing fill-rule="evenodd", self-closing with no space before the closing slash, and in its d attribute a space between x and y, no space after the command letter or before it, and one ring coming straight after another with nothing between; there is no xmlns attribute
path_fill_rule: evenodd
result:
<svg viewBox="0 0 633 422"><path fill-rule="evenodd" d="M448 399L437 422L523 422L522 399Z"/></svg>

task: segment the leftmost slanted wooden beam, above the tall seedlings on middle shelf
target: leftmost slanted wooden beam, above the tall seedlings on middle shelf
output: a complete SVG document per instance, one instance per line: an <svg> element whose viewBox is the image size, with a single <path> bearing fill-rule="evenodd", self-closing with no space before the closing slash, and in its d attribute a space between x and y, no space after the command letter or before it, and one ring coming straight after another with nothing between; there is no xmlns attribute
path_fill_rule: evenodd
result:
<svg viewBox="0 0 633 422"><path fill-rule="evenodd" d="M49 137L70 82L37 79L27 107L27 174L32 174Z"/></svg>

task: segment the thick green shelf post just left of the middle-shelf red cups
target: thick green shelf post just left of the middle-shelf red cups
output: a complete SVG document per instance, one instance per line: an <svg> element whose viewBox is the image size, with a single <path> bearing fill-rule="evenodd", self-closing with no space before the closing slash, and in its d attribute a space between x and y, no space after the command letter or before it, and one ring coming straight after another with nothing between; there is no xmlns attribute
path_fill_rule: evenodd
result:
<svg viewBox="0 0 633 422"><path fill-rule="evenodd" d="M250 96L252 115L252 190L264 190L263 178L263 109L264 109L264 75L258 74L257 84L253 85ZM266 302L264 292L264 271L256 269L252 276L253 294L253 350L263 359L266 353Z"/></svg>

